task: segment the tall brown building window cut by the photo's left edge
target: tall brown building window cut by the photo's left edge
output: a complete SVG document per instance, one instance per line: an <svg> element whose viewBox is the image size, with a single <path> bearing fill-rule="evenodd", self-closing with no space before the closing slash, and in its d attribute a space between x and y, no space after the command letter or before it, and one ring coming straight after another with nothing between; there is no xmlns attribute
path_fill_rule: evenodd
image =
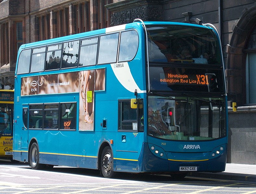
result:
<svg viewBox="0 0 256 194"><path fill-rule="evenodd" d="M0 65L2 67L3 65L9 64L9 22L1 24L0 35Z"/></svg>

